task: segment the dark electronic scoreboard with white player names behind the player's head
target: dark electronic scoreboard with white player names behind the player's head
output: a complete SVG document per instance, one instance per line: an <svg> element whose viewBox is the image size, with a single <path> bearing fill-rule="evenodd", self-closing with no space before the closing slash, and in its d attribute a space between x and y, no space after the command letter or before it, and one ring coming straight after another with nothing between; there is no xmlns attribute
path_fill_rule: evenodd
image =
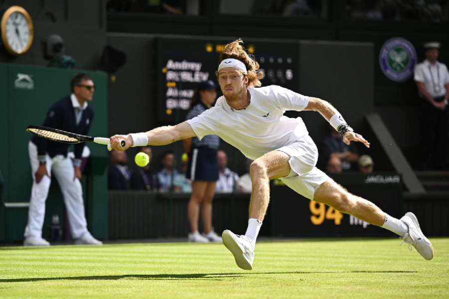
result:
<svg viewBox="0 0 449 299"><path fill-rule="evenodd" d="M179 123L186 119L199 82L217 83L215 72L220 53L234 39L197 37L157 38L157 119ZM280 85L296 90L298 46L295 42L243 39L265 74L262 86ZM221 96L220 88L217 95Z"/></svg>

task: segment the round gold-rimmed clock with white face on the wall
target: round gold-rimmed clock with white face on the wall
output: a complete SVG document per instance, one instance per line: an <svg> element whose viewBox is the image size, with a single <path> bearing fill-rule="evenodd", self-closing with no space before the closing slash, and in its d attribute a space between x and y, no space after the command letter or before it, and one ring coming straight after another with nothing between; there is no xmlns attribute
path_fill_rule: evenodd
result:
<svg viewBox="0 0 449 299"><path fill-rule="evenodd" d="M20 6L9 7L1 19L3 45L13 55L25 53L33 39L31 17Z"/></svg>

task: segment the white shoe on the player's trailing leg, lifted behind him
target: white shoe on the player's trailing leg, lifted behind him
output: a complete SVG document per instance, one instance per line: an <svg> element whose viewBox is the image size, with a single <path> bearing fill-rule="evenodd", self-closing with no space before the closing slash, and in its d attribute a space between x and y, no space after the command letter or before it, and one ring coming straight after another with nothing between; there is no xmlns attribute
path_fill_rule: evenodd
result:
<svg viewBox="0 0 449 299"><path fill-rule="evenodd" d="M423 258L432 260L434 258L434 247L421 231L420 224L418 223L415 214L408 212L401 218L401 220L407 224L409 231L400 239L409 244L410 251L412 251L411 245L413 245Z"/></svg>

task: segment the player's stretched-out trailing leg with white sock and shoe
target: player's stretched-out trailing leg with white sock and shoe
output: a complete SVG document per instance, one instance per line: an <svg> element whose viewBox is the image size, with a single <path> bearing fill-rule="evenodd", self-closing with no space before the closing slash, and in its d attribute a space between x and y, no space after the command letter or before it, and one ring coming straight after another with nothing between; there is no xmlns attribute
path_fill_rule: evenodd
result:
<svg viewBox="0 0 449 299"><path fill-rule="evenodd" d="M424 236L418 219L411 212L401 219L394 218L371 201L351 194L332 179L317 188L313 199L398 234L404 242L413 245L426 260L432 260L434 257L432 243Z"/></svg>

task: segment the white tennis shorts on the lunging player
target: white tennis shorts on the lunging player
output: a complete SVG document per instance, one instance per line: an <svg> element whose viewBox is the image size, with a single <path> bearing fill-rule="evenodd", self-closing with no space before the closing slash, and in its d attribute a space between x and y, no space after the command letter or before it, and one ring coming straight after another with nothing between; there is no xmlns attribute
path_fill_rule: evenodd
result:
<svg viewBox="0 0 449 299"><path fill-rule="evenodd" d="M276 150L290 156L288 160L290 173L279 179L297 193L313 200L316 189L330 179L326 173L316 167L318 149L313 140L307 135Z"/></svg>

